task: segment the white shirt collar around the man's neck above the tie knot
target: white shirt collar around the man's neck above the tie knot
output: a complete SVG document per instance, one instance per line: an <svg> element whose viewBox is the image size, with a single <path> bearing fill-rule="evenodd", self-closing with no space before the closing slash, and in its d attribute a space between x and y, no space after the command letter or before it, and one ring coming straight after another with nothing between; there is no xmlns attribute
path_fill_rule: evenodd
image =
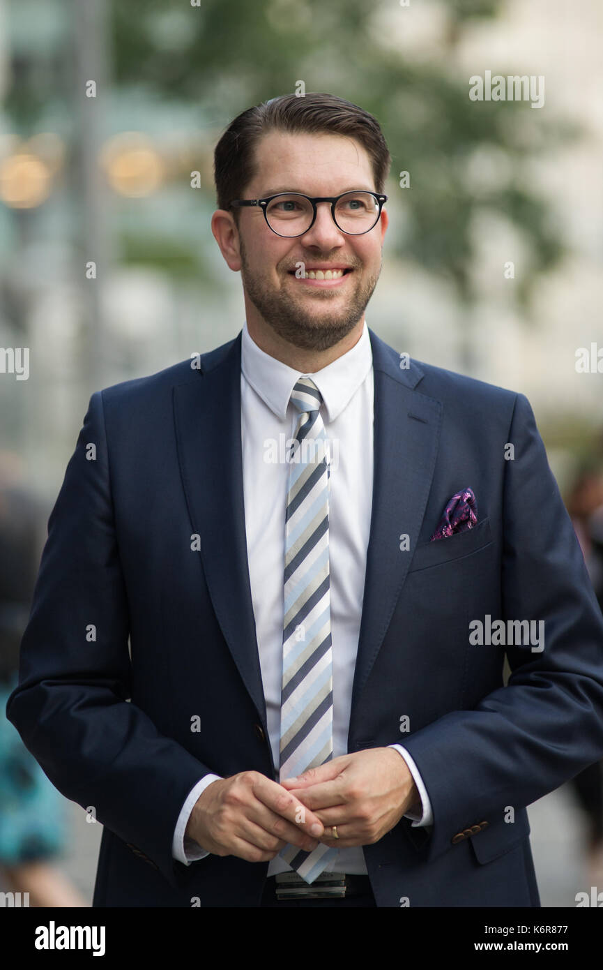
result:
<svg viewBox="0 0 603 970"><path fill-rule="evenodd" d="M270 410L282 421L287 416L287 405L297 380L303 375L311 377L320 391L327 411L327 420L333 421L352 399L372 367L372 349L368 326L354 346L315 373L303 374L287 364L277 361L262 350L249 335L244 321L240 345L240 369L245 380L259 394Z"/></svg>

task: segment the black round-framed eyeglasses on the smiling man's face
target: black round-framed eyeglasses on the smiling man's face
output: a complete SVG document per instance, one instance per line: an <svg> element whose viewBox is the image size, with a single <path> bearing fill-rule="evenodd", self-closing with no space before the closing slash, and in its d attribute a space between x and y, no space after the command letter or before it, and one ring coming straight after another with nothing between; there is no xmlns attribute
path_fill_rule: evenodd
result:
<svg viewBox="0 0 603 970"><path fill-rule="evenodd" d="M266 199L235 199L231 206L259 206L269 229L276 236L303 236L316 220L319 202L331 204L331 214L337 229L348 236L363 236L370 232L381 215L387 195L365 189L343 192L342 195L321 195L311 199L301 192L279 192Z"/></svg>

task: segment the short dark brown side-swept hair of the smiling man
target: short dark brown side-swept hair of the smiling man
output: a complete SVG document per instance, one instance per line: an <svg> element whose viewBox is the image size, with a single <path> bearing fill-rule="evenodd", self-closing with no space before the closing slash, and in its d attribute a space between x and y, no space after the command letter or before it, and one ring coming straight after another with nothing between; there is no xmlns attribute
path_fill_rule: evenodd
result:
<svg viewBox="0 0 603 970"><path fill-rule="evenodd" d="M371 160L376 191L384 191L392 156L372 114L334 94L283 94L238 114L215 146L213 177L218 209L228 210L254 178L256 143L270 131L347 135L356 139ZM238 221L238 209L233 211Z"/></svg>

